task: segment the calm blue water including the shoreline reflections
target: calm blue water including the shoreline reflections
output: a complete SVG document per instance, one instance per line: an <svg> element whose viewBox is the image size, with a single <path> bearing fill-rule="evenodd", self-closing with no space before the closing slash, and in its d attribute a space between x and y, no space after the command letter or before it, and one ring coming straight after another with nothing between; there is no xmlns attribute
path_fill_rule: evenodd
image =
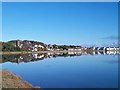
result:
<svg viewBox="0 0 120 90"><path fill-rule="evenodd" d="M117 55L4 55L2 68L42 88L118 87Z"/></svg>

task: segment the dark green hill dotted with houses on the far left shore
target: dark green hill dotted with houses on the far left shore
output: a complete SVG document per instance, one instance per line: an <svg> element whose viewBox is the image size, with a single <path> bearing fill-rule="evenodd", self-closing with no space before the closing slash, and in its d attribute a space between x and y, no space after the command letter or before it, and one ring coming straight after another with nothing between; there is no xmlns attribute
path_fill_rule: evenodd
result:
<svg viewBox="0 0 120 90"><path fill-rule="evenodd" d="M42 42L30 40L11 40L0 44L2 51L40 51L45 50L46 47Z"/></svg>

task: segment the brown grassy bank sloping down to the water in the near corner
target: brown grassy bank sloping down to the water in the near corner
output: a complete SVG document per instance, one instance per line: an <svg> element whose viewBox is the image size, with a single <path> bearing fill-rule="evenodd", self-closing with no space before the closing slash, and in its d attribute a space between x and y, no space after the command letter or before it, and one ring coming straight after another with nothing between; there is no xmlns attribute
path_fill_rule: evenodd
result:
<svg viewBox="0 0 120 90"><path fill-rule="evenodd" d="M34 87L30 83L23 81L20 76L17 76L8 70L2 70L2 88L40 89L40 87Z"/></svg>

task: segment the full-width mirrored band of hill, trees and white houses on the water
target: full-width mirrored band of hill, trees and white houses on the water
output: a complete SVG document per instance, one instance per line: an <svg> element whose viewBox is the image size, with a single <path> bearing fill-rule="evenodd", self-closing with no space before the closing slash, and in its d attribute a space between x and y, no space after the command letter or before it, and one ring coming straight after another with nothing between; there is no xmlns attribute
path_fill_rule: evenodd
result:
<svg viewBox="0 0 120 90"><path fill-rule="evenodd" d="M45 58L56 58L56 57L72 57L72 56L81 56L81 55L119 55L120 52L115 51L97 51L97 52L59 52L59 53L32 53L32 54L14 54L14 55L2 55L1 62L12 62L12 63L21 63L21 62L32 62L43 60Z"/></svg>

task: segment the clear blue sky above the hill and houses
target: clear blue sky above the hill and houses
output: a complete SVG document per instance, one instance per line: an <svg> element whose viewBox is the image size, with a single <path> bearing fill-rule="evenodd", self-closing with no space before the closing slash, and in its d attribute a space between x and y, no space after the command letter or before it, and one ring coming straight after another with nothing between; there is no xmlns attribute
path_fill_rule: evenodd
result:
<svg viewBox="0 0 120 90"><path fill-rule="evenodd" d="M3 41L25 39L76 45L117 42L115 2L4 2L2 10Z"/></svg>

